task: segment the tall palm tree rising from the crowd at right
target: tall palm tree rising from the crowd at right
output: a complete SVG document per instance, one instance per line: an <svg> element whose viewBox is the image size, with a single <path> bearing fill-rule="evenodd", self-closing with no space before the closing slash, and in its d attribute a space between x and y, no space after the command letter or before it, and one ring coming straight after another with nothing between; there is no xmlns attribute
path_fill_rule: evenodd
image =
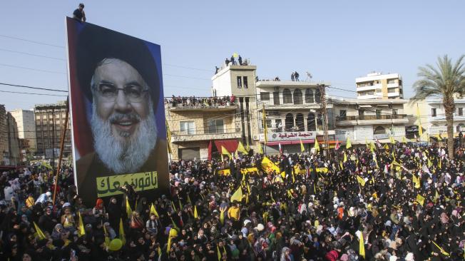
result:
<svg viewBox="0 0 465 261"><path fill-rule="evenodd" d="M464 57L460 56L455 64L447 56L438 57L437 68L430 64L419 67L417 75L420 79L414 83L415 95L412 98L412 101L421 101L431 96L442 98L447 121L447 148L451 159L454 158L454 97L465 93Z"/></svg>

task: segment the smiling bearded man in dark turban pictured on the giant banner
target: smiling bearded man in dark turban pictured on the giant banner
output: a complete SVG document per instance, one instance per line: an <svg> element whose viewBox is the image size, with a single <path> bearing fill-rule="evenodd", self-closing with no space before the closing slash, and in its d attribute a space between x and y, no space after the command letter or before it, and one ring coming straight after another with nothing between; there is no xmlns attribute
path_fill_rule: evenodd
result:
<svg viewBox="0 0 465 261"><path fill-rule="evenodd" d="M76 59L79 85L91 101L94 148L76 161L79 195L96 198L96 178L155 171L165 176L168 150L156 124L164 116L156 111L163 92L145 42L87 24L78 35ZM168 183L168 175L154 176Z"/></svg>

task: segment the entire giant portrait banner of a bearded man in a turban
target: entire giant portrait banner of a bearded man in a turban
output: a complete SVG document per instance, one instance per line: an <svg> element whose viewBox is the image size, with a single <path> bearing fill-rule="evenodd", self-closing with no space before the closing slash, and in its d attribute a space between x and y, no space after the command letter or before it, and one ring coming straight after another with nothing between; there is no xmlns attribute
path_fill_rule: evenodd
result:
<svg viewBox="0 0 465 261"><path fill-rule="evenodd" d="M71 18L66 29L78 195L168 193L160 46Z"/></svg>

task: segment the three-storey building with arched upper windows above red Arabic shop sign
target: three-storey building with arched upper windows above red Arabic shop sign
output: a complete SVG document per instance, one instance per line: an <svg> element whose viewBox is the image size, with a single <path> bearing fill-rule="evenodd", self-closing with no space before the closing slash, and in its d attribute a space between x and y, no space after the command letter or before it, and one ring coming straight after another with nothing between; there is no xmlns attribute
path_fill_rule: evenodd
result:
<svg viewBox="0 0 465 261"><path fill-rule="evenodd" d="M315 139L324 140L323 114L319 84L306 81L257 81L257 113L255 118L260 126L260 135L254 140L265 145L263 109L267 124L267 153L278 153L279 146L285 153L300 152L300 141L307 149ZM334 143L334 118L332 103L327 103L328 135ZM310 144L312 143L312 144Z"/></svg>

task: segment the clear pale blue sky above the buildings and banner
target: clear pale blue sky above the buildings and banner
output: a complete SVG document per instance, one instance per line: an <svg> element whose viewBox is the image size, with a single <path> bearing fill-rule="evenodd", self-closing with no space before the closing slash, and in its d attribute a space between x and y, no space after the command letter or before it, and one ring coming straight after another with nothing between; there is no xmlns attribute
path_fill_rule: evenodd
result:
<svg viewBox="0 0 465 261"><path fill-rule="evenodd" d="M64 18L79 2L2 3L0 83L68 89ZM349 90L372 71L400 73L409 98L419 66L465 54L461 0L83 3L88 22L161 46L165 96L210 96L215 66L236 52L257 66L259 78L290 79L292 71L305 78L310 71L313 81ZM66 93L0 84L8 111L65 99Z"/></svg>

